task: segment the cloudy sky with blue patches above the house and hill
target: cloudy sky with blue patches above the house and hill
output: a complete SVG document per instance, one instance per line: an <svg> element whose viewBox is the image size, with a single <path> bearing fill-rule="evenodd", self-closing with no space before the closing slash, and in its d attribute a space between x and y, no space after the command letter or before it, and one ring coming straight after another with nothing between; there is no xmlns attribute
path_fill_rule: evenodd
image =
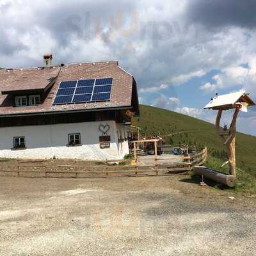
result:
<svg viewBox="0 0 256 256"><path fill-rule="evenodd" d="M255 0L1 0L0 67L41 67L45 53L54 64L118 60L141 104L214 122L204 106L216 93L256 100L255 12ZM256 107L237 130L256 135Z"/></svg>

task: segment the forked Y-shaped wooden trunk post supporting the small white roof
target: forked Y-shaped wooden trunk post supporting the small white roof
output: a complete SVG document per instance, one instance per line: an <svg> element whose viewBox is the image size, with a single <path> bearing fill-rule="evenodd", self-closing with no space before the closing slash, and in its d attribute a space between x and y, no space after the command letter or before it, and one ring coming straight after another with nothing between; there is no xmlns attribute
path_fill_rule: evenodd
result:
<svg viewBox="0 0 256 256"><path fill-rule="evenodd" d="M223 113L223 109L219 109L218 115L216 118L216 129L218 135L223 141L224 145L227 145L227 153L228 153L228 164L229 164L229 173L230 175L234 175L236 177L236 120L240 111L239 106L237 106L236 111L233 116L232 123L230 125L230 129L228 132L228 138L225 138L225 134L221 133L220 120L221 115Z"/></svg>

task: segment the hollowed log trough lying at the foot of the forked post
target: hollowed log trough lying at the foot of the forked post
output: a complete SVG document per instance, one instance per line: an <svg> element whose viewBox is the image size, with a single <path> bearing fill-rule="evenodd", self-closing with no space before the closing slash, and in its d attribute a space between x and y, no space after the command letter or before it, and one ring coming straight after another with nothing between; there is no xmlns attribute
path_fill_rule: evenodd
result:
<svg viewBox="0 0 256 256"><path fill-rule="evenodd" d="M214 180L230 188L236 186L236 177L234 175L226 175L225 173L217 172L204 166L195 166L194 172L195 175L202 175L205 179Z"/></svg>

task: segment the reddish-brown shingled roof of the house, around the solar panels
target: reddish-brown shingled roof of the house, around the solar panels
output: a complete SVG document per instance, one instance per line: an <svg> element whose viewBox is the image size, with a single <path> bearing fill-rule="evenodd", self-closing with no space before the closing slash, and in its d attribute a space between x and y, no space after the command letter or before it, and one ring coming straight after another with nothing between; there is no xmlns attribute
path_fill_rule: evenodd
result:
<svg viewBox="0 0 256 256"><path fill-rule="evenodd" d="M129 108L132 106L134 79L131 74L118 67L118 61L76 63L51 68L25 68L0 71L0 91L45 89L49 79L56 77L46 99L39 106L15 108L12 95L0 95L0 116L45 113L57 111L76 111L86 109ZM106 102L87 102L53 106L55 95L61 81L113 77L111 99ZM136 85L134 90L136 90Z"/></svg>

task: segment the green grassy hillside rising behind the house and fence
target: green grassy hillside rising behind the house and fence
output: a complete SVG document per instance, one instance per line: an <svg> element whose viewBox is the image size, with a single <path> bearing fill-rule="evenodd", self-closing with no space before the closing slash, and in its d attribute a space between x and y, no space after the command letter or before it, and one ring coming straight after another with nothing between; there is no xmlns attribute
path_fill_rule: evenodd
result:
<svg viewBox="0 0 256 256"><path fill-rule="evenodd" d="M196 118L150 106L140 106L140 118L133 125L139 126L148 135L161 134L166 143L207 146L207 166L220 170L227 161L226 148L216 134L215 126ZM182 132L175 134L175 132ZM173 136L167 136L172 134ZM256 192L256 137L237 132L237 179L242 191ZM228 166L224 170L227 172Z"/></svg>

